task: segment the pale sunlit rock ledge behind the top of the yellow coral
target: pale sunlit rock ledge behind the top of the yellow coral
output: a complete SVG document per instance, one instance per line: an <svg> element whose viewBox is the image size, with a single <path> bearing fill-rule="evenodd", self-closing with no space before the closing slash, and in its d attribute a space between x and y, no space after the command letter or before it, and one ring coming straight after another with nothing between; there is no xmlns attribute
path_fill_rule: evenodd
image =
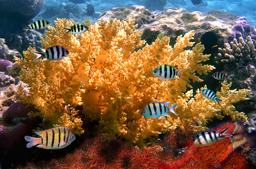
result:
<svg viewBox="0 0 256 169"><path fill-rule="evenodd" d="M144 6L116 7L104 12L100 19L128 19L134 18L138 24L137 30L143 31L142 39L147 43L155 40L159 33L169 36L170 44L181 34L195 30L194 38L201 37L206 31L213 31L219 39L226 40L231 33L235 20L234 14L212 10L209 12L188 12L183 8L165 8L163 11L149 11Z"/></svg>

